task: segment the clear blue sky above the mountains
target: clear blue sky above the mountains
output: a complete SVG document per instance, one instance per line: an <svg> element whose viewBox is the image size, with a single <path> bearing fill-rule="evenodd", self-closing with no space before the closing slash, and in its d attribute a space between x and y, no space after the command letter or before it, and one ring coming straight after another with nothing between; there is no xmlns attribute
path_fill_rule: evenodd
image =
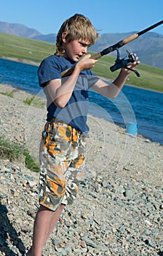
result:
<svg viewBox="0 0 163 256"><path fill-rule="evenodd" d="M0 7L0 21L41 34L57 34L75 13L89 18L100 34L141 31L163 20L163 0L0 0ZM163 25L152 31L163 34Z"/></svg>

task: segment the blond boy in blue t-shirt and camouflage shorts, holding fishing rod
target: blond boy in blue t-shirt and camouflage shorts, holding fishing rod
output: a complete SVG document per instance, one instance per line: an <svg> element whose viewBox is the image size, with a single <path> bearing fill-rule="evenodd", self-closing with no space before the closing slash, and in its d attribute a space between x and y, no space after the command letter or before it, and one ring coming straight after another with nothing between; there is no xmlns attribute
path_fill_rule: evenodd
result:
<svg viewBox="0 0 163 256"><path fill-rule="evenodd" d="M39 84L47 96L47 124L42 133L40 149L40 206L28 256L41 256L63 208L76 199L89 132L88 89L114 98L130 74L130 70L121 69L109 86L92 74L90 69L97 60L90 59L87 48L98 37L88 18L73 15L60 27L56 53L44 59L38 70ZM131 65L132 69L138 63L135 61ZM71 75L62 78L61 73L72 66L74 69Z"/></svg>

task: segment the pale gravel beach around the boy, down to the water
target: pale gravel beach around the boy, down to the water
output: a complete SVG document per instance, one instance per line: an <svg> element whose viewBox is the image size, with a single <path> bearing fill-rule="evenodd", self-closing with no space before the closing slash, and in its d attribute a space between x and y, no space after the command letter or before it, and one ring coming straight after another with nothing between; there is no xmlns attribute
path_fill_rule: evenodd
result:
<svg viewBox="0 0 163 256"><path fill-rule="evenodd" d="M12 97L7 94L12 94ZM46 108L31 94L0 85L1 138L28 148L37 163ZM63 211L44 256L163 255L163 146L134 138L115 124L88 116L87 162L79 197ZM0 162L0 256L31 246L39 173L22 162Z"/></svg>

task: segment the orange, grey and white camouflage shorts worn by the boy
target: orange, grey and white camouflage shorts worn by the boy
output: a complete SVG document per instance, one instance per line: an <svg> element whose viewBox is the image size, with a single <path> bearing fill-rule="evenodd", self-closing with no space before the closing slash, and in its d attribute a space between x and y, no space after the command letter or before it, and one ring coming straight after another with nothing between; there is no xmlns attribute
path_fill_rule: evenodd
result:
<svg viewBox="0 0 163 256"><path fill-rule="evenodd" d="M47 122L40 146L39 203L55 211L79 191L87 138L56 118Z"/></svg>

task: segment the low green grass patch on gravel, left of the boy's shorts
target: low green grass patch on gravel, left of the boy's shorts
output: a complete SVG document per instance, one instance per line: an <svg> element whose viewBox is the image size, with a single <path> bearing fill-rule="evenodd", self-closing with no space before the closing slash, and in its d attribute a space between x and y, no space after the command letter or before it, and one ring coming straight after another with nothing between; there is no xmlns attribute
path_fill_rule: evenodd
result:
<svg viewBox="0 0 163 256"><path fill-rule="evenodd" d="M28 152L28 149L24 149L15 143L9 143L9 141L0 138L0 158L9 159L10 162L23 162L25 159L25 166L34 171L39 172L39 166L36 165L33 158Z"/></svg>

